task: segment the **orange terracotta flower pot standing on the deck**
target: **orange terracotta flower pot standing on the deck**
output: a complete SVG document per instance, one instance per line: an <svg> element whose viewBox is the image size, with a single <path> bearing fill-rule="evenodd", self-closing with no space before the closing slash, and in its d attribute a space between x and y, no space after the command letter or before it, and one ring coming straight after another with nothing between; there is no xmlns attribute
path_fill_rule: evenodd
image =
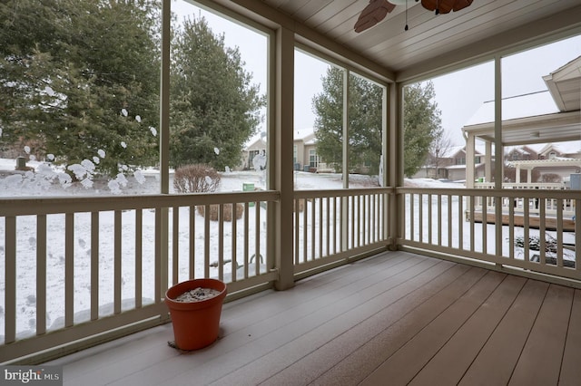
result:
<svg viewBox="0 0 581 386"><path fill-rule="evenodd" d="M196 288L212 288L220 294L198 302L177 302L179 295ZM218 339L222 303L226 285L217 279L193 279L173 285L165 293L165 304L172 317L175 346L181 350L197 350Z"/></svg>

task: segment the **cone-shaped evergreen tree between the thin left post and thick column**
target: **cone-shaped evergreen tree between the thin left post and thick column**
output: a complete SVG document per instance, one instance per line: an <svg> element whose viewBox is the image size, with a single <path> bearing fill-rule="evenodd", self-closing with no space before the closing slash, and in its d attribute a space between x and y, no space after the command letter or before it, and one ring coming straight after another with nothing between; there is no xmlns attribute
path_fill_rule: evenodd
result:
<svg viewBox="0 0 581 386"><path fill-rule="evenodd" d="M186 19L172 41L172 166L207 164L223 170L261 123L265 99L243 69L238 48L224 44L206 20Z"/></svg>

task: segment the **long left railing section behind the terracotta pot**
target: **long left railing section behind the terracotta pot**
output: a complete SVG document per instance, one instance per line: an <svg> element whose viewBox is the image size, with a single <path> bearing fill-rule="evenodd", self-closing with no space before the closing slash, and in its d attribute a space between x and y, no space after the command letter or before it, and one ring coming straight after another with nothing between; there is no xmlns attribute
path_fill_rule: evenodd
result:
<svg viewBox="0 0 581 386"><path fill-rule="evenodd" d="M187 278L219 277L230 293L268 285L277 274L267 269L266 207L278 199L272 191L1 199L0 362L166 323L163 294ZM239 220L211 220L231 207Z"/></svg>

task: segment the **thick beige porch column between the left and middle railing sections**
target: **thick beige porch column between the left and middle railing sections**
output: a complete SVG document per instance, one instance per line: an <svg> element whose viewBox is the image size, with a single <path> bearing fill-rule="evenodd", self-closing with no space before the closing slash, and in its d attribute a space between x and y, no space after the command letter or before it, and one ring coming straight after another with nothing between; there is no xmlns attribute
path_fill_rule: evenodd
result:
<svg viewBox="0 0 581 386"><path fill-rule="evenodd" d="M274 259L279 269L279 280L274 283L277 290L285 290L294 285L294 246L292 203L294 199L292 135L293 93L294 93L294 32L281 27L276 32L276 86L275 86L275 128L272 132L270 180L272 188L281 192L281 200L274 204L273 222Z"/></svg>

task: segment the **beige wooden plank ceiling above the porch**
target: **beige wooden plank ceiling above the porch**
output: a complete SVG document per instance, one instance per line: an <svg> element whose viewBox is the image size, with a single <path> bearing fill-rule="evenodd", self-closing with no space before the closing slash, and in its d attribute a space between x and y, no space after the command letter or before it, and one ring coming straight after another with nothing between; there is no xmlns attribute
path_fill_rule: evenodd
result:
<svg viewBox="0 0 581 386"><path fill-rule="evenodd" d="M474 0L468 8L438 15L408 0L407 6L396 5L379 24L359 34L354 25L369 0L262 4L379 63L398 80L581 25L579 0Z"/></svg>

